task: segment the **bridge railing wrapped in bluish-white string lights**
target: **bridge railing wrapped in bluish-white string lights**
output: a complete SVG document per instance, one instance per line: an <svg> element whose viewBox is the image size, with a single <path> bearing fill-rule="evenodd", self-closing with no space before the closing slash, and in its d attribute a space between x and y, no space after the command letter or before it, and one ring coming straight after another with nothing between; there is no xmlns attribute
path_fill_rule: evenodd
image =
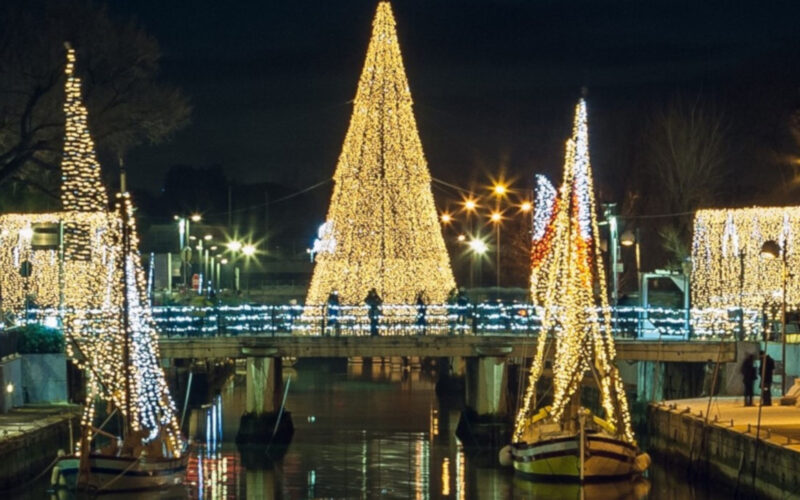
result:
<svg viewBox="0 0 800 500"><path fill-rule="evenodd" d="M375 311L373 310L373 313ZM521 302L386 305L378 314L367 306L216 305L156 306L158 331L165 336L236 335L537 335L541 308ZM30 309L6 314L5 324L41 323L58 327L63 311ZM612 307L610 327L617 337L642 340L761 338L760 311ZM601 328L606 325L601 324ZM557 330L557 329L556 329Z"/></svg>

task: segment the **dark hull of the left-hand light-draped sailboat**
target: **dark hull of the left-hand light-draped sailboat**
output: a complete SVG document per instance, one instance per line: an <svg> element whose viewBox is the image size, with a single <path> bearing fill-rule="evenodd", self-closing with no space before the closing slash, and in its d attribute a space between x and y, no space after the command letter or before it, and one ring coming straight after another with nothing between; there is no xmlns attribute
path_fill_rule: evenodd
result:
<svg viewBox="0 0 800 500"><path fill-rule="evenodd" d="M88 480L79 484L80 458L72 455L56 463L51 483L57 488L88 489L98 493L163 489L183 484L187 463L188 455L138 461L133 457L92 455Z"/></svg>

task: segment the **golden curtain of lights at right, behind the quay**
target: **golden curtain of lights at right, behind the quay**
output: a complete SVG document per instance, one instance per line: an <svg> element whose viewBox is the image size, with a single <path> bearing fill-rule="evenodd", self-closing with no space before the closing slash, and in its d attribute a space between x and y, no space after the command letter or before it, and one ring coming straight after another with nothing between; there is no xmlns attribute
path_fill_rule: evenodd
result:
<svg viewBox="0 0 800 500"><path fill-rule="evenodd" d="M786 252L786 305L800 308L800 207L700 210L692 242L692 305L762 310L782 301L782 256L761 256L765 241ZM785 250L784 250L785 249ZM694 318L693 318L694 320ZM752 333L752 332L748 332Z"/></svg>

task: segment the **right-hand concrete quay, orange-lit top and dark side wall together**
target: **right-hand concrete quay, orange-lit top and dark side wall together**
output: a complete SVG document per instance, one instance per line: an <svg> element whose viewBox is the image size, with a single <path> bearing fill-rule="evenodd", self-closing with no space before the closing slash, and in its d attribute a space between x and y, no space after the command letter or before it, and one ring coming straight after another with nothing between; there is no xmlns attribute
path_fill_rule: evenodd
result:
<svg viewBox="0 0 800 500"><path fill-rule="evenodd" d="M800 408L762 407L757 430L758 411L741 396L715 397L710 405L708 398L652 403L648 449L727 482L739 495L800 498Z"/></svg>

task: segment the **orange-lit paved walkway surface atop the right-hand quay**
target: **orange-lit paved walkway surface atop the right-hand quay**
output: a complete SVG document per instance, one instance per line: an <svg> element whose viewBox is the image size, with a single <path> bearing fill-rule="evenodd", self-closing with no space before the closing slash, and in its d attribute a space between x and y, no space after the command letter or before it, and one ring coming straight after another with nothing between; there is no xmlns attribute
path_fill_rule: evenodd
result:
<svg viewBox="0 0 800 500"><path fill-rule="evenodd" d="M759 437L800 452L800 408L779 406L779 400L780 396L773 396L773 405L762 407ZM754 404L757 403L758 397L755 397ZM744 406L743 396L715 397L711 401L710 409L708 398L676 399L658 405L673 407L678 413L688 410L692 416L702 419L705 419L708 412L710 424L756 437L758 406Z"/></svg>

